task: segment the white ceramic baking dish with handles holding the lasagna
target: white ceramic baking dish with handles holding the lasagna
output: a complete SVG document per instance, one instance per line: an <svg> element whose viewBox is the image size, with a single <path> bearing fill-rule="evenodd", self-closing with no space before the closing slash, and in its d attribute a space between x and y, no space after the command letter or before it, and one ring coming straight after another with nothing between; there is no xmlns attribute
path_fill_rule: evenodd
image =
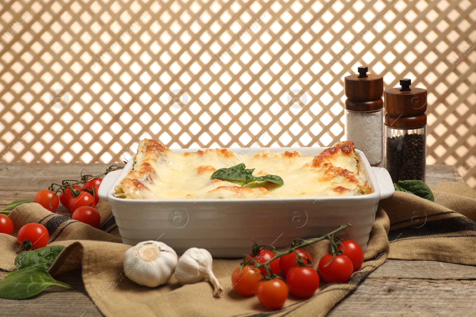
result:
<svg viewBox="0 0 476 317"><path fill-rule="evenodd" d="M282 153L298 151L314 157L325 147L238 148L238 154L263 150ZM176 153L198 149L174 149ZM365 250L380 199L393 195L394 187L387 170L371 167L365 155L356 150L361 169L367 172L374 192L359 196L146 200L114 197L114 187L132 168L133 159L123 170L109 173L99 187L99 198L108 201L122 242L135 245L144 240L160 240L182 254L191 247L204 248L213 257L241 257L253 242L262 241L278 249L294 238L314 238L351 223L344 230L348 238ZM311 158L309 158L311 161Z"/></svg>

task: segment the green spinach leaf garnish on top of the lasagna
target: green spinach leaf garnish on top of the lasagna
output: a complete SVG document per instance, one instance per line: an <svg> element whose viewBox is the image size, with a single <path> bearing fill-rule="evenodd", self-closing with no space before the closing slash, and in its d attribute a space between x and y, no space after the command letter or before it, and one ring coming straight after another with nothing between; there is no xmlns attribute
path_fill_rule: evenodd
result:
<svg viewBox="0 0 476 317"><path fill-rule="evenodd" d="M254 168L247 169L244 163L240 163L232 167L220 168L211 174L211 178L220 179L230 183L240 183L241 186L252 182L272 182L279 185L284 184L283 179L277 175L268 174L263 176L255 176L253 175L254 171Z"/></svg>

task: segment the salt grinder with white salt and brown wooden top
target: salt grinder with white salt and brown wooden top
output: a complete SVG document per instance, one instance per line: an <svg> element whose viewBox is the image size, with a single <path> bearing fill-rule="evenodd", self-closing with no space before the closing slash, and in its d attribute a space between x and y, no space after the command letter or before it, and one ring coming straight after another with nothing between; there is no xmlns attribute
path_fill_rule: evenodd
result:
<svg viewBox="0 0 476 317"><path fill-rule="evenodd" d="M383 156L383 100L382 76L367 74L367 66L360 66L358 75L344 78L346 140L353 141L364 152L372 166L380 166Z"/></svg>

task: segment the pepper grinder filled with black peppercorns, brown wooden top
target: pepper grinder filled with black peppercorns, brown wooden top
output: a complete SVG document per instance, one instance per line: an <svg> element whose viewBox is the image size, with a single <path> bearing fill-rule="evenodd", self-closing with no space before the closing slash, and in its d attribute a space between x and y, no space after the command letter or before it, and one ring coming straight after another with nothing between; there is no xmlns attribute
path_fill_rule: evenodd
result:
<svg viewBox="0 0 476 317"><path fill-rule="evenodd" d="M426 89L410 88L407 78L400 79L400 85L385 91L384 167L394 183L425 182Z"/></svg>

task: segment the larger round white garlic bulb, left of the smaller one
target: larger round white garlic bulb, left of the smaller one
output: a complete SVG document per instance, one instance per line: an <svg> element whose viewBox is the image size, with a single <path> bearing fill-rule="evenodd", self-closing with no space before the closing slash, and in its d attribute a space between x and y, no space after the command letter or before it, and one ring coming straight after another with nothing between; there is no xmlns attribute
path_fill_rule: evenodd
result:
<svg viewBox="0 0 476 317"><path fill-rule="evenodd" d="M177 253L158 241L139 242L124 254L124 273L142 286L167 283L177 266Z"/></svg>

